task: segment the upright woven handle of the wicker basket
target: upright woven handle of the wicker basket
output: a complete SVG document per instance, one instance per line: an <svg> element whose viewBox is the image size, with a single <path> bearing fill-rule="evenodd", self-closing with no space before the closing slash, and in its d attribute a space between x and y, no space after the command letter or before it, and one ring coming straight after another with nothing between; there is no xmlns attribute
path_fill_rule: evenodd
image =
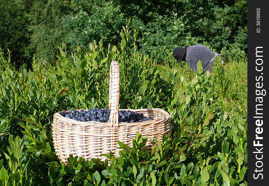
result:
<svg viewBox="0 0 269 186"><path fill-rule="evenodd" d="M120 100L120 69L117 61L110 65L109 77L109 109L111 109L110 127L119 126L119 100Z"/></svg>

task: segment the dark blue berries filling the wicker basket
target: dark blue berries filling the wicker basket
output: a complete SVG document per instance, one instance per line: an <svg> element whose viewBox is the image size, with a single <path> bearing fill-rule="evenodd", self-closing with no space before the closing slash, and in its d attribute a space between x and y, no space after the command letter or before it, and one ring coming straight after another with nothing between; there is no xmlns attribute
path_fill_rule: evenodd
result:
<svg viewBox="0 0 269 186"><path fill-rule="evenodd" d="M70 113L61 114L63 117L70 118L80 122L108 122L110 116L110 109L104 107L92 108L88 110L77 111L72 109ZM119 111L119 122L133 123L133 122L145 122L149 119L144 117L143 113L135 113L130 110Z"/></svg>

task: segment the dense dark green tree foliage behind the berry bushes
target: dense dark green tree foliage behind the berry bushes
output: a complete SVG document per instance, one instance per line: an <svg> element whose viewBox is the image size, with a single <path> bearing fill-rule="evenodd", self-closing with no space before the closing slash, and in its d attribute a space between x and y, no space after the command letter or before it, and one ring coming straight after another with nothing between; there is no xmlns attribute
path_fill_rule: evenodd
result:
<svg viewBox="0 0 269 186"><path fill-rule="evenodd" d="M17 64L33 54L53 63L61 43L72 51L101 38L104 46L117 45L127 18L139 30L138 49L160 63L177 46L205 44L226 59L247 50L246 0L1 0L0 6L0 45Z"/></svg>

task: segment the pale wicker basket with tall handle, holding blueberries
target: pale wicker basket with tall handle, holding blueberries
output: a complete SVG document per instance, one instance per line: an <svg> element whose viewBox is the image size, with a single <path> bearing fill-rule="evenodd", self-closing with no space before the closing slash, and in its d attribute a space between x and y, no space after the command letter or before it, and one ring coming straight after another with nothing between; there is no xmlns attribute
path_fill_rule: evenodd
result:
<svg viewBox="0 0 269 186"><path fill-rule="evenodd" d="M132 147L132 139L135 138L137 132L149 139L155 139L158 135L158 142L161 142L162 135L171 134L170 115L160 108L122 109L143 113L144 116L153 120L119 123L119 83L119 64L113 61L110 66L109 79L109 108L111 109L109 122L79 122L61 115L70 111L54 114L52 137L54 149L60 161L67 163L69 154L84 157L86 160L100 158L101 161L105 161L106 157L101 156L103 153L111 151L118 156L120 149L117 148L117 140ZM149 139L146 147L152 149Z"/></svg>

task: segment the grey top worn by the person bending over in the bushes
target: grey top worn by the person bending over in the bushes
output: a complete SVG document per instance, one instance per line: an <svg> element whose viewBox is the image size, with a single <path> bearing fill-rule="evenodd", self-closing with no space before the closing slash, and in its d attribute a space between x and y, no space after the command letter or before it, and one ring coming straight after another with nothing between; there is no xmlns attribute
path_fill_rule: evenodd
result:
<svg viewBox="0 0 269 186"><path fill-rule="evenodd" d="M188 47L186 53L186 61L190 66L190 69L197 71L197 63L199 60L202 61L203 70L206 71L210 69L212 71L211 66L214 66L212 60L215 56L215 53L211 51L209 48L203 45L194 45Z"/></svg>

